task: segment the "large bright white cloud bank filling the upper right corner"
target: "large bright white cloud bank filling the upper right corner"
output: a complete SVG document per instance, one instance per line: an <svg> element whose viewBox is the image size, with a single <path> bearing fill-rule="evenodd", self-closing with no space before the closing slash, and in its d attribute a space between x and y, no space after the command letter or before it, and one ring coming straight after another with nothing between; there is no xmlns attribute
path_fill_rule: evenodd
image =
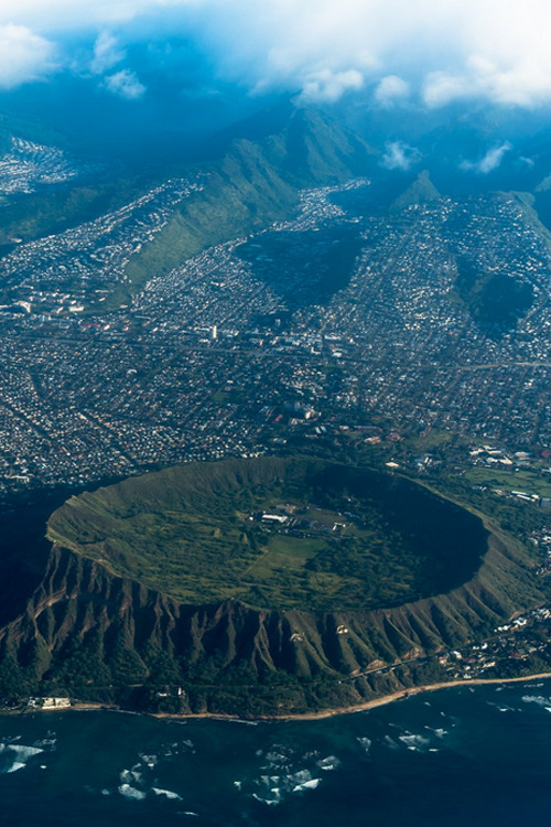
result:
<svg viewBox="0 0 551 827"><path fill-rule="evenodd" d="M190 8L190 7L186 7ZM220 71L264 89L317 93L352 72L379 105L551 101L549 0L196 0L195 31ZM323 84L322 84L323 96ZM328 98L350 86L338 84Z"/></svg>

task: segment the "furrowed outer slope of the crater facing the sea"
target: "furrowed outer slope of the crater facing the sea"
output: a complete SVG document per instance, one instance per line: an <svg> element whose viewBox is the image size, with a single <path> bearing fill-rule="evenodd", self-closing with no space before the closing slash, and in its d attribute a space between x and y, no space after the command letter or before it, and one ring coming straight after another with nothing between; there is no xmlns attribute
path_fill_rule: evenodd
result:
<svg viewBox="0 0 551 827"><path fill-rule="evenodd" d="M347 706L412 686L420 657L484 636L540 599L529 568L496 538L477 577L447 595L320 615L180 605L54 545L26 611L0 630L0 696L65 690L241 715ZM398 662L408 664L357 677Z"/></svg>

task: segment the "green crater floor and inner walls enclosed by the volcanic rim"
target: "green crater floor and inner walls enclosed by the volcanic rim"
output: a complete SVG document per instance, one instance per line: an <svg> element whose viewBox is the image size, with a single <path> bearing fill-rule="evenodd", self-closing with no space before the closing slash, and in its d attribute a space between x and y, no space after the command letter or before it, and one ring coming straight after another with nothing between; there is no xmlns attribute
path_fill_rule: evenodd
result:
<svg viewBox="0 0 551 827"><path fill-rule="evenodd" d="M68 500L51 540L181 603L357 611L469 580L488 533L400 476L311 459L193 463Z"/></svg>

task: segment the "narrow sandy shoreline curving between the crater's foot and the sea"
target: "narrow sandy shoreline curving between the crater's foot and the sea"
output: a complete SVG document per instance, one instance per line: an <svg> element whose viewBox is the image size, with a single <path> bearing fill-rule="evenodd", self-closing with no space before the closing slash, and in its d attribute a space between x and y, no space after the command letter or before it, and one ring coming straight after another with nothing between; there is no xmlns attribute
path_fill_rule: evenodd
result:
<svg viewBox="0 0 551 827"><path fill-rule="evenodd" d="M372 698L366 700L364 704L356 704L352 707L334 707L332 709L323 709L318 712L298 712L296 715L270 715L270 716L256 716L251 718L244 718L241 716L235 716L225 712L182 712L180 715L171 712L140 712L131 709L120 709L117 706L108 706L105 704L94 702L77 702L71 707L32 707L25 709L4 709L0 711L0 716L13 716L13 715L29 715L32 712L120 712L121 715L140 715L148 718L156 718L158 720L193 720L193 719L210 719L219 721L239 721L242 723L255 723L270 721L280 722L292 722L292 721L315 721L323 720L324 718L334 718L341 715L356 715L357 712L366 712L369 709L376 709L377 707L383 707L388 704L393 704L398 700L404 700L411 698L413 695L421 695L424 692L434 692L440 689L456 689L460 686L491 686L499 684L522 684L531 683L532 680L545 680L551 678L551 672L543 672L537 675L525 675L516 678L467 678L465 680L456 679L450 681L441 681L439 684L426 684L424 686L414 686L409 689L400 689L390 695L383 695L380 698Z"/></svg>

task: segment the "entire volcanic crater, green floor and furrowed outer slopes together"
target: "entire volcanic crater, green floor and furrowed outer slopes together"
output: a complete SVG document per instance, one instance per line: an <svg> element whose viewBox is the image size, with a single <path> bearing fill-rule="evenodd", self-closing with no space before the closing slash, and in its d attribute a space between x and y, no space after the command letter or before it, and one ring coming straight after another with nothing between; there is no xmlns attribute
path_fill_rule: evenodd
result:
<svg viewBox="0 0 551 827"><path fill-rule="evenodd" d="M0 698L295 715L447 679L439 654L544 600L516 539L541 509L432 482L295 455L72 497L41 584L0 627Z"/></svg>

